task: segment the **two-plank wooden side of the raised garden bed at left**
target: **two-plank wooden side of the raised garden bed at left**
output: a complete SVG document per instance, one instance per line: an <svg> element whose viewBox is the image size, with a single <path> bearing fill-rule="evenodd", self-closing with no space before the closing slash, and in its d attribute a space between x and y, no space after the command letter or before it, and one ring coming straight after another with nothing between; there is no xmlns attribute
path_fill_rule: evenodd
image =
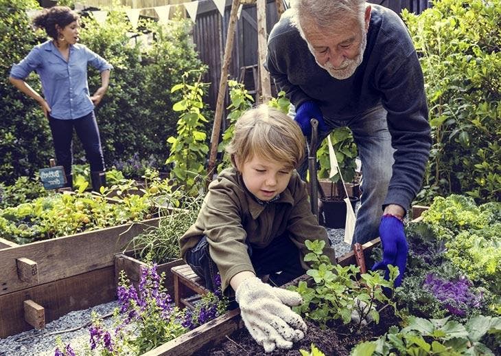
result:
<svg viewBox="0 0 501 356"><path fill-rule="evenodd" d="M158 223L150 219L19 246L0 241L0 337L115 300L115 254Z"/></svg>

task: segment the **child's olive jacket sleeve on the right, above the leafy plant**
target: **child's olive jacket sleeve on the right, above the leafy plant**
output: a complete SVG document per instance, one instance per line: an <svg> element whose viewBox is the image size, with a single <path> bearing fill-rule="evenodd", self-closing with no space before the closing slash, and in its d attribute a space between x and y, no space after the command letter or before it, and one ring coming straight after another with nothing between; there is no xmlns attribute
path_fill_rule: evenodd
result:
<svg viewBox="0 0 501 356"><path fill-rule="evenodd" d="M323 254L327 255L331 263L336 264L336 254L330 247L327 231L321 225L318 225L316 217L312 214L310 200L306 192L306 183L299 176L293 181L294 186L294 208L288 221L288 231L292 242L301 251L301 263L303 268L309 269L310 266L303 262L304 256L309 252L305 246L305 241L321 240L325 241Z"/></svg>

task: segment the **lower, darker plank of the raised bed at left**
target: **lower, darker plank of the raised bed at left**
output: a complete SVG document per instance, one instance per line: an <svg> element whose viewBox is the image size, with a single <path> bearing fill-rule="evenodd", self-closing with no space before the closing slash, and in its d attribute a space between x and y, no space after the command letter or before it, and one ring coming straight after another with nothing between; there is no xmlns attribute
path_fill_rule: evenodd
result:
<svg viewBox="0 0 501 356"><path fill-rule="evenodd" d="M25 321L25 300L42 305L45 322L51 322L70 311L114 300L113 278L111 266L0 296L0 338L33 329Z"/></svg>

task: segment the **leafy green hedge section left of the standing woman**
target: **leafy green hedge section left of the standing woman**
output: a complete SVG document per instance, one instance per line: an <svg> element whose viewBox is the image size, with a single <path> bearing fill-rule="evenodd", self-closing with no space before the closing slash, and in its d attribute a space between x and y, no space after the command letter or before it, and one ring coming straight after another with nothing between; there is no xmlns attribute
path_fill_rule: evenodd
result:
<svg viewBox="0 0 501 356"><path fill-rule="evenodd" d="M40 107L8 80L12 65L43 41L26 14L37 8L34 0L0 0L0 180L5 183L33 176L54 154L49 124ZM27 83L40 93L36 74Z"/></svg>

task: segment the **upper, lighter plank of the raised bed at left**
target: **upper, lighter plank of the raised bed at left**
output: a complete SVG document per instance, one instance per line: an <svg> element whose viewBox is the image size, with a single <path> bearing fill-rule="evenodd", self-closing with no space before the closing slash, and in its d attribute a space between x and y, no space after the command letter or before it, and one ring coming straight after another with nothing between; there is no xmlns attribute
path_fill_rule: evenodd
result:
<svg viewBox="0 0 501 356"><path fill-rule="evenodd" d="M159 219L108 227L93 232L29 243L0 249L0 296L34 285L44 284L113 266L115 254L124 249L132 237L148 226L157 226ZM29 258L38 264L38 282L23 282L17 274L16 258Z"/></svg>

